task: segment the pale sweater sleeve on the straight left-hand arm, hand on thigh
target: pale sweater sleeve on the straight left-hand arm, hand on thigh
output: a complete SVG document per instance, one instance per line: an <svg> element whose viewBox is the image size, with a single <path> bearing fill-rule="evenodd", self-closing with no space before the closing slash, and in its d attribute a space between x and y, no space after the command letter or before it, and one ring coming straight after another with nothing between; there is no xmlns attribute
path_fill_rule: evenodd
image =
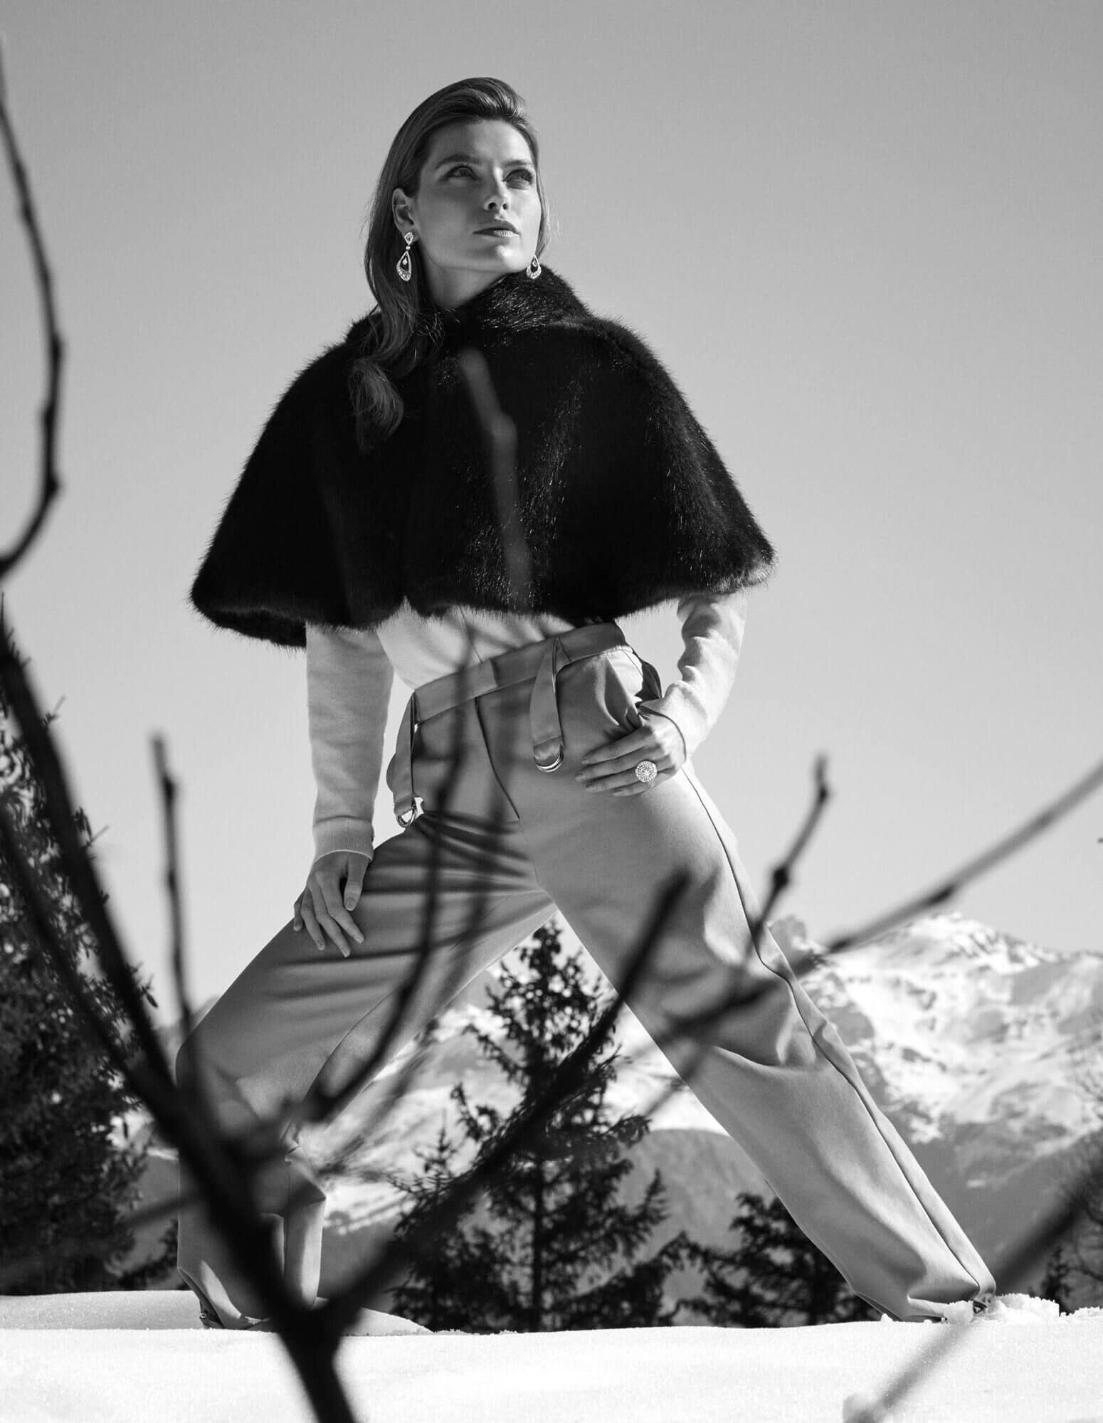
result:
<svg viewBox="0 0 1103 1423"><path fill-rule="evenodd" d="M306 625L306 704L315 771L315 859L371 857L371 815L394 669L370 630Z"/></svg>

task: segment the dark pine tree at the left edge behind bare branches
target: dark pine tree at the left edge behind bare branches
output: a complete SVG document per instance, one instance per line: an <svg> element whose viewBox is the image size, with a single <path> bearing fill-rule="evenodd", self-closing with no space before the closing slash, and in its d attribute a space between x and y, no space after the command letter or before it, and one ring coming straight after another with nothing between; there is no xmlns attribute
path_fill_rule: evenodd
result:
<svg viewBox="0 0 1103 1423"><path fill-rule="evenodd" d="M16 655L1 616L0 635ZM47 724L53 720L46 717ZM3 696L0 797L14 820L21 859L48 896L57 941L121 1043L125 1015L95 975L91 931L60 864L41 781ZM90 847L87 815L77 811L74 818ZM152 1002L148 985L138 986ZM0 1292L130 1288L155 1276L164 1268L159 1261L130 1274L120 1264L134 1244L127 1212L144 1164L141 1153L118 1140L120 1123L135 1101L58 980L3 847L0 1103Z"/></svg>

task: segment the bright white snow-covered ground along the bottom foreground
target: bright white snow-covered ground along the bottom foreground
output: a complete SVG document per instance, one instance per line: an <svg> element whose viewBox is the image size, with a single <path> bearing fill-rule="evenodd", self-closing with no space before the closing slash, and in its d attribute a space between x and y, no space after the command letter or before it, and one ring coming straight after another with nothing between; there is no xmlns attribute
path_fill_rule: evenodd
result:
<svg viewBox="0 0 1103 1423"><path fill-rule="evenodd" d="M393 1333L343 1340L363 1423L844 1423L946 1331L895 1423L1103 1423L1103 1309L1010 1296L971 1323ZM406 1326L408 1328L408 1325ZM3 1423L309 1420L279 1339L198 1328L185 1292L0 1299Z"/></svg>

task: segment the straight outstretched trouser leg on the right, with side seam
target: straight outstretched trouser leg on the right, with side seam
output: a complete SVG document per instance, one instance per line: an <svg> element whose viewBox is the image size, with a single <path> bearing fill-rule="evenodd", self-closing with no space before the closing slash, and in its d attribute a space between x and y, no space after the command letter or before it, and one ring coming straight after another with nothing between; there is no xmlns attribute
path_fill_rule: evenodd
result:
<svg viewBox="0 0 1103 1423"><path fill-rule="evenodd" d="M689 871L686 894L630 999L645 1029L683 1073L703 1049L690 1080L695 1094L857 1294L917 1319L993 1289L983 1261L770 933L750 951L749 921L759 906L734 837L692 768L623 798L575 781L585 751L628 731L640 692L622 653L565 669L566 758L551 776L534 774L524 757L511 756L508 737L495 743L491 736L541 884L619 983L656 888ZM754 996L670 1040L679 1023L707 1013L733 988Z"/></svg>

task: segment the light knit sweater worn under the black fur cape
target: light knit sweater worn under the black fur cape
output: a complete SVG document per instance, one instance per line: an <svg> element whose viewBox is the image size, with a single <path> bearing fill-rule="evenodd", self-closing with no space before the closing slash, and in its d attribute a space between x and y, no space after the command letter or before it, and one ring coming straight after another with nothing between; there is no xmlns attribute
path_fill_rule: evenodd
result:
<svg viewBox="0 0 1103 1423"><path fill-rule="evenodd" d="M683 598L677 616L685 643L679 676L662 697L640 702L640 709L673 721L690 757L716 724L732 690L747 618L746 589ZM460 667L571 626L545 615L517 618L470 609L426 619L408 603L370 630L307 623L306 697L317 787L315 859L339 850L373 854L371 820L396 673L417 690Z"/></svg>

